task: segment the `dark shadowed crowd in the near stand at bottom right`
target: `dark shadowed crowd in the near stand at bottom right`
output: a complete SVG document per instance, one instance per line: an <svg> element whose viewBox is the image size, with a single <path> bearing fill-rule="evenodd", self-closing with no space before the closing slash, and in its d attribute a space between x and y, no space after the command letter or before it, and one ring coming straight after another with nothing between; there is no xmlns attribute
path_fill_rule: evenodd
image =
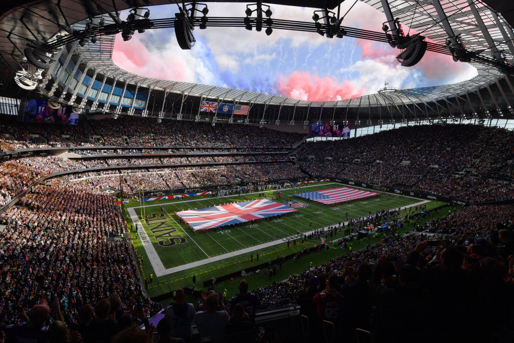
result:
<svg viewBox="0 0 514 343"><path fill-rule="evenodd" d="M425 225L449 234L442 240L384 235L375 246L311 266L255 294L263 304L299 303L314 342L322 341L321 320L334 322L336 337L353 337L360 328L376 342L508 341L513 213L514 205L469 206Z"/></svg>

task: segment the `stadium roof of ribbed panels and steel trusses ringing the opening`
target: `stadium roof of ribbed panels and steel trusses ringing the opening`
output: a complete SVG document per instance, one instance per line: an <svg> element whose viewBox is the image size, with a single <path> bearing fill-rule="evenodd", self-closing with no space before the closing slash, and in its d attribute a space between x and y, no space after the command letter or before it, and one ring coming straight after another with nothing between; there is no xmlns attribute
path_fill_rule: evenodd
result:
<svg viewBox="0 0 514 343"><path fill-rule="evenodd" d="M383 11L380 0L362 0L378 10ZM207 1L208 2L208 1ZM230 1L228 1L230 2ZM494 2L494 1L491 1ZM172 1L171 3L175 3ZM271 3L307 7L324 7L327 2L321 1L271 1ZM514 60L514 33L511 26L503 16L480 0L389 0L394 17L402 23L411 23L410 27L425 35L428 39L439 45L445 45L448 32L443 22L445 18L438 14L434 4L440 4L448 23L456 35L466 44L468 51L484 50L481 55L492 56L494 59ZM29 2L7 0L3 2L4 16L0 19L0 55L7 65L18 70L26 65L23 59L23 51L28 40L43 41L49 39L64 26L75 24L75 29L83 29L86 19L107 12L130 9L139 6L152 6L170 4L166 0L152 0L144 2L113 0L103 2L91 0L88 2L76 2L74 0L51 0L44 2ZM328 2L327 7L337 6L337 1ZM505 7L505 6L504 6ZM106 23L113 23L111 17L104 15ZM379 26L381 23L376 23ZM478 62L471 64L478 70L478 75L470 80L431 87L412 89L388 89L377 94L365 95L353 99L339 101L311 102L298 100L279 95L271 95L231 89L225 87L195 84L188 82L166 81L152 79L129 73L118 67L112 60L115 35L102 35L96 44L86 43L83 47L76 46L76 55L80 56L81 64L87 64L88 68L98 71L99 75L108 75L109 78L117 78L128 84L138 84L139 87L149 87L155 91L179 93L191 96L219 98L227 101L242 103L258 103L266 105L298 105L298 106L325 106L325 107L370 107L370 106L398 106L417 104L431 107L434 112L439 112L439 107L459 106L466 107L467 112L475 112L470 96L480 100L480 107L484 110L491 107L499 109L504 105L511 109L514 102L514 89L508 77L497 68ZM74 59L78 60L75 56ZM456 62L463 63L463 62ZM499 81L503 81L504 87L510 88L505 92ZM490 86L501 93L491 92ZM490 97L480 94L480 89L487 89ZM478 99L476 96L478 96ZM489 98L489 100L484 99ZM498 102L495 98L501 98ZM449 101L456 100L456 103ZM492 103L492 102L493 103ZM448 103L440 105L438 102ZM488 103L489 102L489 103ZM434 104L435 103L435 104ZM501 103L501 104L500 104ZM469 105L468 105L469 104ZM423 112L423 110L420 108ZM398 110L400 111L400 110ZM463 110L461 109L461 112Z"/></svg>

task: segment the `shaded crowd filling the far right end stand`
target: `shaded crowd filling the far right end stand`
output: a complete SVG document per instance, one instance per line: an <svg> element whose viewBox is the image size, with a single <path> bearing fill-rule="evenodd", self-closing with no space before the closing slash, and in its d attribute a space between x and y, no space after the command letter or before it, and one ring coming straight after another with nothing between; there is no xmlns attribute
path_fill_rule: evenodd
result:
<svg viewBox="0 0 514 343"><path fill-rule="evenodd" d="M425 125L306 143L295 155L314 176L498 201L514 197L511 180L492 178L511 175L506 161L514 156L512 139L512 131L494 127Z"/></svg>

